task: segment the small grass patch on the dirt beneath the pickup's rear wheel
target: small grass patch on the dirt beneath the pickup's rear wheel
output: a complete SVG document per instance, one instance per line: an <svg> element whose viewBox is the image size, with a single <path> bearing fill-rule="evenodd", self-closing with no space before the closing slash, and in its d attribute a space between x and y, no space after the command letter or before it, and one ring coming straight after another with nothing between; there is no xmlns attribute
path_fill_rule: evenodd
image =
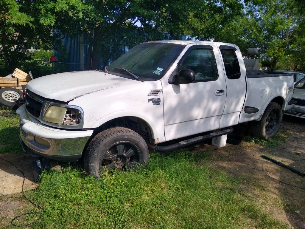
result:
<svg viewBox="0 0 305 229"><path fill-rule="evenodd" d="M278 131L278 133L271 139L264 140L259 137L244 136L244 141L249 143L258 143L262 146L267 146L269 148L277 147L281 142L286 142L289 138L289 133L286 131Z"/></svg>

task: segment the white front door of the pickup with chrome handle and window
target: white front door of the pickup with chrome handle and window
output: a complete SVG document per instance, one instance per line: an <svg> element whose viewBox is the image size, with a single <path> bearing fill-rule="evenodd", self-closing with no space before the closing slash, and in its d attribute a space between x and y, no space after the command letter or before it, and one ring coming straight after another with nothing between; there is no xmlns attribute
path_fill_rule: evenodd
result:
<svg viewBox="0 0 305 229"><path fill-rule="evenodd" d="M217 45L191 46L173 74L185 68L195 72L195 82L174 85L162 81L167 141L218 129L224 111L227 89Z"/></svg>

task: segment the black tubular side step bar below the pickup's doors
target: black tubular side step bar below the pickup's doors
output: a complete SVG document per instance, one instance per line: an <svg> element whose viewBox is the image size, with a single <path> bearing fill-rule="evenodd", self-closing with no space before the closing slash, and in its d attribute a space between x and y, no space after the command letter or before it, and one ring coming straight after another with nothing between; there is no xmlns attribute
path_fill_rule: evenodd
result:
<svg viewBox="0 0 305 229"><path fill-rule="evenodd" d="M160 151L160 152L165 152L165 151L170 151L170 150L175 150L175 149L179 149L197 142L201 142L204 140L209 140L211 138L214 137L218 137L218 136L222 136L222 135L226 135L226 134L230 134L233 132L233 128L230 127L230 129L224 129L224 130L219 130L217 132L212 132L203 136L198 136L198 137L194 137L194 138L190 138L172 145L168 145L168 146L152 146L150 145L150 147L152 147L153 149L155 149L156 151Z"/></svg>

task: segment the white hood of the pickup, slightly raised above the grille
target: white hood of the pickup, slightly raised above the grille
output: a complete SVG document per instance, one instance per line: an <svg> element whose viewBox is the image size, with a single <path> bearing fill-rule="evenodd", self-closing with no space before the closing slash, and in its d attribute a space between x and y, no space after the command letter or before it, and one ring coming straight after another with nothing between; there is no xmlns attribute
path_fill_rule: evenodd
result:
<svg viewBox="0 0 305 229"><path fill-rule="evenodd" d="M47 99L68 102L99 90L135 83L141 82L100 71L74 71L31 80L27 89Z"/></svg>

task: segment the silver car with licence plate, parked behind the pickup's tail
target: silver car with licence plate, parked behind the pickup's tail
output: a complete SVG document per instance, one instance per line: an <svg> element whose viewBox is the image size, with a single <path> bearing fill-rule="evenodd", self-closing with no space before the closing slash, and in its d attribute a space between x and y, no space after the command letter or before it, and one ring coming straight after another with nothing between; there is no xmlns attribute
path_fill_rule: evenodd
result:
<svg viewBox="0 0 305 229"><path fill-rule="evenodd" d="M296 101L296 105L285 111L285 114L305 118L305 77L294 85L292 100Z"/></svg>

